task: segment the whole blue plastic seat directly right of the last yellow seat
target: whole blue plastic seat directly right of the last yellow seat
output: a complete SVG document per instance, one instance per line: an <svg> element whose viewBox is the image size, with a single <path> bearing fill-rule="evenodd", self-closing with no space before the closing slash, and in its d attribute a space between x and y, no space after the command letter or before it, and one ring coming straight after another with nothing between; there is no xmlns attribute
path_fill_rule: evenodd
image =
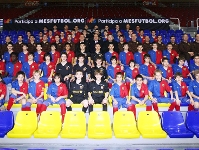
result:
<svg viewBox="0 0 199 150"><path fill-rule="evenodd" d="M179 111L165 111L162 113L162 128L170 138L193 138L194 134L189 131Z"/></svg>

